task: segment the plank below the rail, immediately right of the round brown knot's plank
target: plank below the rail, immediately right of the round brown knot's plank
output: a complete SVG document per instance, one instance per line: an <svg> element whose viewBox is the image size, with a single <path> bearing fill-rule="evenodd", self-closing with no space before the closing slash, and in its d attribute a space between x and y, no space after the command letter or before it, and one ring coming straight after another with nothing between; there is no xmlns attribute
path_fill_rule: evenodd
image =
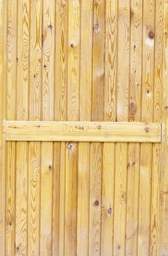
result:
<svg viewBox="0 0 168 256"><path fill-rule="evenodd" d="M113 255L115 143L103 143L101 255Z"/></svg>

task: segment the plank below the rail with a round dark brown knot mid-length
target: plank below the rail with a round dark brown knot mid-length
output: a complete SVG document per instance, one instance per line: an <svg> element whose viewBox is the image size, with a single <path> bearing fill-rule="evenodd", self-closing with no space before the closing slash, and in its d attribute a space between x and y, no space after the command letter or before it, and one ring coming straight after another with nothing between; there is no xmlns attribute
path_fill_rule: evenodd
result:
<svg viewBox="0 0 168 256"><path fill-rule="evenodd" d="M100 255L101 249L101 193L102 143L91 143L90 148L90 205L89 205L89 256Z"/></svg>

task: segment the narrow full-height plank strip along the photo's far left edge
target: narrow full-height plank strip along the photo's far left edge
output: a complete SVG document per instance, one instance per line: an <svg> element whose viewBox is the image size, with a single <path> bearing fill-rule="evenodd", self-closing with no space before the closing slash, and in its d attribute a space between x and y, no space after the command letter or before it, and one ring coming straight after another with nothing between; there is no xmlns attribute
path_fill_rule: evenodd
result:
<svg viewBox="0 0 168 256"><path fill-rule="evenodd" d="M0 255L5 255L5 164L3 120L6 118L7 1L0 0Z"/></svg>

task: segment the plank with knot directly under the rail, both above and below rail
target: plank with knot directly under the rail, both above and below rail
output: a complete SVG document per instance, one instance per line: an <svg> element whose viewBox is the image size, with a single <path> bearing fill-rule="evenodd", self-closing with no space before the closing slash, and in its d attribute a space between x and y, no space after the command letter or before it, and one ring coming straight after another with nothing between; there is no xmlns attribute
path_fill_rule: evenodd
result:
<svg viewBox="0 0 168 256"><path fill-rule="evenodd" d="M68 1L68 110L67 118L79 120L79 0ZM65 255L76 255L78 143L67 143L65 181Z"/></svg>

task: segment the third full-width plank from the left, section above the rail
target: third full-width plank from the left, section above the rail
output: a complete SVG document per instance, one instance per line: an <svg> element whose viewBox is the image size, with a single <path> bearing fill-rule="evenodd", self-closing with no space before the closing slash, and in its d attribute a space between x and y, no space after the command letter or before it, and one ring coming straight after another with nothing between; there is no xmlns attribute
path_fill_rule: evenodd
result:
<svg viewBox="0 0 168 256"><path fill-rule="evenodd" d="M31 1L29 119L41 118L41 23L42 0Z"/></svg>

